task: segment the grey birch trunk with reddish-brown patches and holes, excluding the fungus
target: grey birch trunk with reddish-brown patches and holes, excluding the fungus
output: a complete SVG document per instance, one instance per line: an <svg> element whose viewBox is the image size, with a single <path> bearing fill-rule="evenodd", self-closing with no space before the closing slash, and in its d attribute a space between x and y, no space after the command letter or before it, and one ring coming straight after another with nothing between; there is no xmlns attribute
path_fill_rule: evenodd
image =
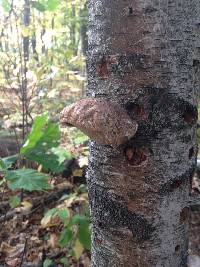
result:
<svg viewBox="0 0 200 267"><path fill-rule="evenodd" d="M119 103L139 125L117 149L90 144L92 266L187 266L199 0L88 7L88 96Z"/></svg>

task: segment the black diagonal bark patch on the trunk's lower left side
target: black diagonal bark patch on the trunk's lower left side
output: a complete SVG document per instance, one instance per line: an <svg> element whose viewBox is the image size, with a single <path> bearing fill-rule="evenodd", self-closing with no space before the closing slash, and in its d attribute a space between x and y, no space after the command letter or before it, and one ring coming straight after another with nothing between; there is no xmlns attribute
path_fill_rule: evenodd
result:
<svg viewBox="0 0 200 267"><path fill-rule="evenodd" d="M93 223L104 229L127 227L138 242L149 240L154 232L152 222L143 215L129 211L117 201L117 196L115 198L111 199L106 189L97 185L90 190Z"/></svg>

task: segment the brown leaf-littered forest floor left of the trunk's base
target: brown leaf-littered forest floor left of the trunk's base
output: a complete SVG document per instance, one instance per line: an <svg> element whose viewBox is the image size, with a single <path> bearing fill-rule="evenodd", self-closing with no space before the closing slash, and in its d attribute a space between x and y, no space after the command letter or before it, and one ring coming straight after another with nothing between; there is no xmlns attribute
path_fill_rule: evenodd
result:
<svg viewBox="0 0 200 267"><path fill-rule="evenodd" d="M89 267L90 252L76 247L79 257L70 256L70 246L59 246L63 222L58 216L44 217L47 210L67 207L70 212L82 213L88 204L84 168L72 166L69 177L53 177L54 189L48 192L23 192L23 201L11 207L12 197L19 190L7 186L0 192L0 267L70 266ZM74 168L74 169L73 169ZM15 205L14 205L15 206Z"/></svg>

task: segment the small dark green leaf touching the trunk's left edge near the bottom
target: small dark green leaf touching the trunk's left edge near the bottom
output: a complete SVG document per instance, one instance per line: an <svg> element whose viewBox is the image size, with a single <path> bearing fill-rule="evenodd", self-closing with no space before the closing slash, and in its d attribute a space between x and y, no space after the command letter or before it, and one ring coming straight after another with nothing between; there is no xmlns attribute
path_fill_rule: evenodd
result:
<svg viewBox="0 0 200 267"><path fill-rule="evenodd" d="M77 238L85 249L91 249L91 233L89 225L80 225L78 228Z"/></svg>

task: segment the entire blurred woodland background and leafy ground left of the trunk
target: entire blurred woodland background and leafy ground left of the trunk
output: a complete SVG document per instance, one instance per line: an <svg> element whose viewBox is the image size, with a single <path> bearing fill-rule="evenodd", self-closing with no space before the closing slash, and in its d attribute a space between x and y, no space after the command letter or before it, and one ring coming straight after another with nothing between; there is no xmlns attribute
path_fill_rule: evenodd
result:
<svg viewBox="0 0 200 267"><path fill-rule="evenodd" d="M0 0L0 264L90 264L88 138L59 126L86 51L86 0Z"/></svg>

